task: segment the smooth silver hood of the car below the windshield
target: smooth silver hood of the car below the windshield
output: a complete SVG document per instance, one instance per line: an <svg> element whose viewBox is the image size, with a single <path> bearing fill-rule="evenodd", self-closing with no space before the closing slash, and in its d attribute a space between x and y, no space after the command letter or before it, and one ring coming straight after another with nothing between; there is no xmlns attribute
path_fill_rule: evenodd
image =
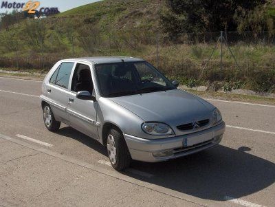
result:
<svg viewBox="0 0 275 207"><path fill-rule="evenodd" d="M146 122L165 122L171 127L208 119L215 108L206 100L180 89L109 99Z"/></svg>

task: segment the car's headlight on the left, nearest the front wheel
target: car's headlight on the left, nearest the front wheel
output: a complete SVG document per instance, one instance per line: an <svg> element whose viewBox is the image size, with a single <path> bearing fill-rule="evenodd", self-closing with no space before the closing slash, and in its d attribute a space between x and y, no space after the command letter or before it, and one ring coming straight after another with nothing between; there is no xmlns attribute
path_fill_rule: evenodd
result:
<svg viewBox="0 0 275 207"><path fill-rule="evenodd" d="M171 135L174 131L167 125L159 122L144 122L142 130L151 135Z"/></svg>

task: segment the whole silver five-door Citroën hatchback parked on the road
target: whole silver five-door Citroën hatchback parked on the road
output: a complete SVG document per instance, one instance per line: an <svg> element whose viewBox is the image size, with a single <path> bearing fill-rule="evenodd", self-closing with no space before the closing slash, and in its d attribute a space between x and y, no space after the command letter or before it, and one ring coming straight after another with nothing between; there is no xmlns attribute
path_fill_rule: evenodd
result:
<svg viewBox="0 0 275 207"><path fill-rule="evenodd" d="M219 109L177 86L140 58L58 61L43 81L43 120L50 131L63 122L98 140L117 171L219 144Z"/></svg>

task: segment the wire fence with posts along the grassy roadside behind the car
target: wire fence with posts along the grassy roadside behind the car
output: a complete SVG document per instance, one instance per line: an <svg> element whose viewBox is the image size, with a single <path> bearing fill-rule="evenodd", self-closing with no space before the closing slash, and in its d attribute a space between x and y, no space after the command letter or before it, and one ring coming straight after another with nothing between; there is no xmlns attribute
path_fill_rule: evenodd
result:
<svg viewBox="0 0 275 207"><path fill-rule="evenodd" d="M253 80L265 88L275 84L275 36L269 32L209 32L167 37L152 32L98 31L74 34L8 36L0 43L0 67L40 69L62 58L80 56L137 56L179 80ZM85 34L85 35L84 35ZM259 83L258 83L259 82Z"/></svg>

